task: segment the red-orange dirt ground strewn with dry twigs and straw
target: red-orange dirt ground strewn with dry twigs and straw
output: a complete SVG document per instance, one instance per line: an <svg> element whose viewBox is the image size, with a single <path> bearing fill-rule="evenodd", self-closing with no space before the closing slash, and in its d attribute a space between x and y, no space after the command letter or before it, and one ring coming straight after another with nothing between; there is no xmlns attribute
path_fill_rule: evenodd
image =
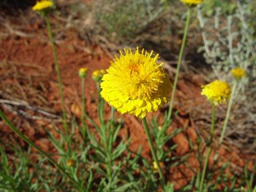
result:
<svg viewBox="0 0 256 192"><path fill-rule="evenodd" d="M44 151L52 153L57 152L47 138L47 131L52 129L52 125L61 127L61 101L57 75L51 45L47 35L47 28L43 22L27 23L22 30L10 32L7 25L0 26L0 107L7 114L11 122L27 135L29 139L39 145ZM59 29L53 28L55 36ZM33 35L27 35L33 34ZM99 123L97 117L97 99L96 84L91 79L91 73L95 69L107 69L111 58L97 45L88 45L79 38L78 33L73 28L65 30L61 39L56 40L57 57L61 78L63 81L63 90L65 97L65 109L68 119L72 117L81 117L81 79L78 71L81 67L88 68L88 75L85 82L86 111ZM149 50L150 51L150 50ZM167 70L168 71L168 70ZM171 79L174 79L171 73ZM193 109L201 105L207 107L208 112L211 109L203 96L201 96L201 85L207 83L205 79L197 74L181 73L181 78L177 86L175 96L175 110L179 115L168 129L168 133L175 129L182 129L187 126L183 133L176 135L172 142L178 144L178 147L170 154L170 157L180 157L190 154L188 163L191 167L198 169L199 164L193 150L189 147L189 138L196 145L199 128L197 122L193 120ZM18 102L19 104L15 104ZM26 107L27 105L31 108ZM37 110L34 110L34 108ZM41 109L39 111L38 109ZM110 115L110 107L105 107L106 117ZM163 119L163 107L159 112L159 119ZM44 111L45 113L42 113ZM117 115L117 114L115 114ZM131 137L129 149L137 151L140 145L143 146L142 155L151 159L151 152L147 143L147 137L143 130L140 119L132 115L121 115L124 119L124 125L120 131L120 137ZM151 117L151 114L149 114ZM7 143L17 143L27 149L24 143L15 135L7 125L1 120L0 137ZM89 124L91 131L93 126ZM203 136L209 136L207 131L202 132ZM207 135L208 133L208 135ZM219 134L215 133L216 141ZM34 151L35 153L35 151ZM219 156L222 162L230 159L231 173L239 175L243 173L245 163L249 163L249 169L253 167L255 157L245 155L236 147L228 145L222 147ZM10 152L10 155L11 152ZM210 164L213 163L213 154L210 157ZM171 167L165 171L165 176L171 183L175 183L175 188L186 185L193 171L186 165Z"/></svg>

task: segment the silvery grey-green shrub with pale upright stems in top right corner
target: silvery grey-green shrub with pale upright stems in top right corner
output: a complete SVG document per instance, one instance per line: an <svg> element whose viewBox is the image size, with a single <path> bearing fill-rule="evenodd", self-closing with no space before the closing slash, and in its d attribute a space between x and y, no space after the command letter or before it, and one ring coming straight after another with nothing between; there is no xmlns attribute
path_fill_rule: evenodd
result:
<svg viewBox="0 0 256 192"><path fill-rule="evenodd" d="M248 83L256 78L255 2L205 1L197 8L204 57L215 75L225 79L235 67L247 71Z"/></svg>

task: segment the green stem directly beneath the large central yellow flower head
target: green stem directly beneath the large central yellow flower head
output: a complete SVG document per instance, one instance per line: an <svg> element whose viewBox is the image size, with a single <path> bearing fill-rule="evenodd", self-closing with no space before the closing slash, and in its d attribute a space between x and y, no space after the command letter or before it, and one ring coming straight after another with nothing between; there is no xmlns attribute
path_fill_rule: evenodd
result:
<svg viewBox="0 0 256 192"><path fill-rule="evenodd" d="M157 153L155 153L155 148L153 146L153 141L152 141L152 139L150 137L149 128L147 127L147 121L146 121L145 117L143 117L141 120L142 120L144 129L145 129L145 133L147 135L147 140L149 141L149 146L150 146L150 149L151 149L151 153L152 153L153 159L154 159L155 163L157 163L157 169L159 170L161 187L164 190L164 188L165 188L165 177L163 176L163 171L162 171L162 169L160 167L160 164L159 164L159 161L157 159Z"/></svg>

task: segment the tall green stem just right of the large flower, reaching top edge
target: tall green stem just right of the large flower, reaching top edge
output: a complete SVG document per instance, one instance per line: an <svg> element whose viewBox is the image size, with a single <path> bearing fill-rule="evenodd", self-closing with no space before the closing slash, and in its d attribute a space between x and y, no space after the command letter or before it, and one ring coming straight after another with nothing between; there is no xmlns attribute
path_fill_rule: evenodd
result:
<svg viewBox="0 0 256 192"><path fill-rule="evenodd" d="M185 25L185 29L184 29L183 39L182 39L182 43L181 43L181 49L179 51L179 59L178 59L175 79L174 79L174 83L173 83L173 91L171 92L171 101L170 101L170 107L169 107L169 111L168 111L168 115L167 115L167 120L169 120L171 118L171 114L173 113L173 100L174 100L175 90L176 90L176 86L177 86L177 82L178 82L178 78L179 78L179 68L181 67L181 59L183 56L185 42L187 39L187 31L189 29L190 15L191 15L191 7L189 7L189 11L187 13L187 21L186 21L186 25Z"/></svg>

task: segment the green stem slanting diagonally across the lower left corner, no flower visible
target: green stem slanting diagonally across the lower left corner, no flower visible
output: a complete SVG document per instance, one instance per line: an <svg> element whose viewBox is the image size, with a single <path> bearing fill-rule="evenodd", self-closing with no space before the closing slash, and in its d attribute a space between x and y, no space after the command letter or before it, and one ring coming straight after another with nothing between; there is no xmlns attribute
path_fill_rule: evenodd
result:
<svg viewBox="0 0 256 192"><path fill-rule="evenodd" d="M77 188L79 189L79 191L84 191L84 189L81 188L81 186L79 185L79 183L77 183L77 181L75 181L75 179L73 179L68 173L65 172L65 169L63 169L63 167L61 167L60 165L58 165L58 163L56 163L49 155L47 155L47 153L45 153L45 151L43 151L42 149L40 149L39 147L37 147L37 145L35 145L35 143L33 143L33 141L31 141L28 137L26 137L25 135L23 135L21 132L19 132L15 126L7 119L7 117L5 116L5 114L3 113L3 111L1 111L0 109L0 116L1 118L5 121L5 123L7 123L7 125L17 134L19 135L19 137L21 137L21 139L23 139L25 142L27 142L29 145L31 145L32 147L34 147L35 149L37 149L37 151L39 151L39 153L41 153L42 155L45 155L45 157L47 157L47 159L53 163L53 165L55 165L55 167L57 167L57 169L59 169L59 171L61 171L61 173L63 175L65 175L65 177L69 178L70 181L72 181Z"/></svg>

